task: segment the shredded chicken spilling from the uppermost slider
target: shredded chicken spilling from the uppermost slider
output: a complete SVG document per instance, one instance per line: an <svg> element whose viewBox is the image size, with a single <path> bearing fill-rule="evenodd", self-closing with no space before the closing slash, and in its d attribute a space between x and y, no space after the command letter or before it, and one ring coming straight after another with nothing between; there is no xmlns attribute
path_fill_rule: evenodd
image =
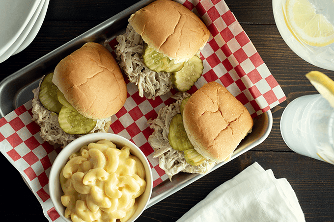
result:
<svg viewBox="0 0 334 222"><path fill-rule="evenodd" d="M171 89L170 73L156 73L142 62L143 43L141 36L129 24L122 35L116 37L117 60L130 82L136 84L139 96L148 94L148 99L166 94Z"/></svg>

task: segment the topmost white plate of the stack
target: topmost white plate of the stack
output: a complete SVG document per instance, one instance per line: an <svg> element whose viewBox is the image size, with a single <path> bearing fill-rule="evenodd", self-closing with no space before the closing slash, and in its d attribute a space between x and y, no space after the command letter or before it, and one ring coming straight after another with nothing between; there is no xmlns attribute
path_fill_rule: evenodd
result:
<svg viewBox="0 0 334 222"><path fill-rule="evenodd" d="M3 54L17 40L34 15L40 1L0 1L0 54Z"/></svg>

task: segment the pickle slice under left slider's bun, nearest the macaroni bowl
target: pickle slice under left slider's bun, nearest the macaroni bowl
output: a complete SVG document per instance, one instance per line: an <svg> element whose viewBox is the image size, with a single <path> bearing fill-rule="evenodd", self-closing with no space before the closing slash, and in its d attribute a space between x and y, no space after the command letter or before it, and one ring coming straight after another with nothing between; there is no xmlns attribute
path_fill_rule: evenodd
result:
<svg viewBox="0 0 334 222"><path fill-rule="evenodd" d="M88 119L63 105L58 114L58 123L60 128L68 134L87 134L95 127L96 120Z"/></svg>

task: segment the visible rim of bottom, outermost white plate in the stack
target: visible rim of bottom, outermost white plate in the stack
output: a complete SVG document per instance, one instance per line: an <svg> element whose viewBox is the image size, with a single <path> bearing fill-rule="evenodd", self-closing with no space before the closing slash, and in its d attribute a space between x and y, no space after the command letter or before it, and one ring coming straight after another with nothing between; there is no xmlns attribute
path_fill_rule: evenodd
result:
<svg viewBox="0 0 334 222"><path fill-rule="evenodd" d="M39 29L41 28L43 24L43 21L46 15L46 11L49 6L49 1L50 0L45 0L42 10L37 18L35 25L33 25L33 27L31 28L31 31L29 32L27 38L23 41L21 46L18 49L16 49L16 51L12 55L15 55L19 53L20 51L22 51L23 49L26 49L30 45L30 43L35 39Z"/></svg>

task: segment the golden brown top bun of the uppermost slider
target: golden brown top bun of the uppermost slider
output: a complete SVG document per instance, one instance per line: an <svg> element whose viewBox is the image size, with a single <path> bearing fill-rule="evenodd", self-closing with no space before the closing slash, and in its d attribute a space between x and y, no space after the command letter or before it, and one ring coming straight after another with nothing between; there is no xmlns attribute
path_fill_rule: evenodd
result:
<svg viewBox="0 0 334 222"><path fill-rule="evenodd" d="M209 39L204 23L171 0L157 0L132 14L130 24L145 43L177 61L193 57Z"/></svg>

